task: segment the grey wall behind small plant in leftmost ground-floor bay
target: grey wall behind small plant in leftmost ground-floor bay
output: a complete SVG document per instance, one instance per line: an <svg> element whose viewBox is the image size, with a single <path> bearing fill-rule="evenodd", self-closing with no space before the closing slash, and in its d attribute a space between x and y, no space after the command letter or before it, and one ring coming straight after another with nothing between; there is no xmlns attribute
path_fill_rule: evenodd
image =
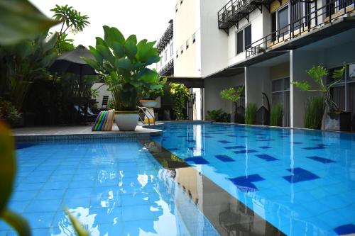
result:
<svg viewBox="0 0 355 236"><path fill-rule="evenodd" d="M232 77L204 79L204 114L206 115L207 111L217 110L220 108L227 113L234 111L233 103L222 99L221 96L219 96L219 93L222 89L243 84L244 73L237 74Z"/></svg>

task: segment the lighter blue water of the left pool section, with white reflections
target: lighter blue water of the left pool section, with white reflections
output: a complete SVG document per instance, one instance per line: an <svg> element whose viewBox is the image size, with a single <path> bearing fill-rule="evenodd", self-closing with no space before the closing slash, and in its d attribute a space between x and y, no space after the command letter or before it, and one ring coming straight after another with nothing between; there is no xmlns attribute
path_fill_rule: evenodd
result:
<svg viewBox="0 0 355 236"><path fill-rule="evenodd" d="M16 154L9 208L33 235L75 235L63 205L90 235L217 235L137 140L25 143ZM0 235L15 233L0 221Z"/></svg>

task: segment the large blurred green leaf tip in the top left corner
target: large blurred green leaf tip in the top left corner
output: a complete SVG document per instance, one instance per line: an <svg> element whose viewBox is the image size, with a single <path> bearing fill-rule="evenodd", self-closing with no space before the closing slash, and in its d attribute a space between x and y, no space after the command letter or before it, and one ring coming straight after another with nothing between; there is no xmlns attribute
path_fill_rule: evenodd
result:
<svg viewBox="0 0 355 236"><path fill-rule="evenodd" d="M33 39L57 24L26 0L0 0L0 45Z"/></svg>

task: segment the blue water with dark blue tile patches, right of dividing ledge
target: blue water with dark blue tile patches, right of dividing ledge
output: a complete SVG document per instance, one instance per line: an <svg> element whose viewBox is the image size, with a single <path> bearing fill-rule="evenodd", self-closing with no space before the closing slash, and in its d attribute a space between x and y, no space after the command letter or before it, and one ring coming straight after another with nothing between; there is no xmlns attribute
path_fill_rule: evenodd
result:
<svg viewBox="0 0 355 236"><path fill-rule="evenodd" d="M355 233L354 134L168 123L154 140L286 235Z"/></svg>

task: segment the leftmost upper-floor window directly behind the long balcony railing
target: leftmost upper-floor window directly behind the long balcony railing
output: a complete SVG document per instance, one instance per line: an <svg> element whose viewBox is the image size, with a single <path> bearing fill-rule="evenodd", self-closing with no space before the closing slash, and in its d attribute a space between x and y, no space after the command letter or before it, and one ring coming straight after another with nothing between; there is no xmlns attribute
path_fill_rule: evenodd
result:
<svg viewBox="0 0 355 236"><path fill-rule="evenodd" d="M276 33L272 35L273 40L276 40L277 37L283 38L284 35L289 33L289 19L288 5L271 14L271 31L275 32L276 30L279 30L278 35L276 35Z"/></svg>

